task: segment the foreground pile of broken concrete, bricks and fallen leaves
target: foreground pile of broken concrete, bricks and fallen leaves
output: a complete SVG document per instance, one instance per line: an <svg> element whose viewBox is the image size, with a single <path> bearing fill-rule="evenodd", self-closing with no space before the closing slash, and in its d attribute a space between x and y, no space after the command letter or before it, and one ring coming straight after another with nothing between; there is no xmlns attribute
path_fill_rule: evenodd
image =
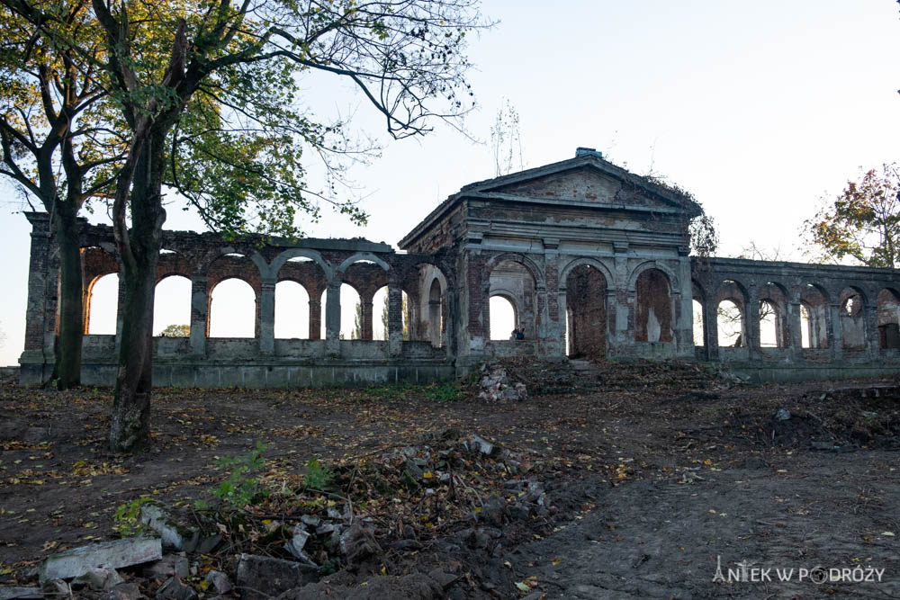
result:
<svg viewBox="0 0 900 600"><path fill-rule="evenodd" d="M316 468L317 486L328 489L291 488L296 481L284 479L286 491L238 510L148 501L139 508L138 537L50 555L34 572L36 587L0 587L0 598L353 597L365 588L348 574L389 596L425 586L428 597L445 597L462 580L458 563L397 578L392 561L440 538L494 554L505 526L549 531L557 512L539 479L556 468L553 461L456 429L334 470Z"/></svg>

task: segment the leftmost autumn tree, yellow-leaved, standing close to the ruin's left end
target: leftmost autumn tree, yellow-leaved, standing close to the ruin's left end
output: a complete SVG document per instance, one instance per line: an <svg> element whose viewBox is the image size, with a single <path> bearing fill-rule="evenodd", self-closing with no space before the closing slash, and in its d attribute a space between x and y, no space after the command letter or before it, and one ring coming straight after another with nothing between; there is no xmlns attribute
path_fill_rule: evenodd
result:
<svg viewBox="0 0 900 600"><path fill-rule="evenodd" d="M78 213L112 193L126 139L110 97L94 76L103 36L88 0L47 6L0 4L0 175L14 182L31 209L51 219L59 250L59 336L54 377L59 389L81 374L82 273ZM88 206L87 208L90 208Z"/></svg>

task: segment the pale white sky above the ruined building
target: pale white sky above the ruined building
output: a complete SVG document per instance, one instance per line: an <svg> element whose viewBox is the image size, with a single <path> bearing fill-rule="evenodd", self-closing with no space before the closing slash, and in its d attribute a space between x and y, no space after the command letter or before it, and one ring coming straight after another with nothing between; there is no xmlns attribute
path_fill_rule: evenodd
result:
<svg viewBox="0 0 900 600"><path fill-rule="evenodd" d="M638 175L665 175L716 219L719 255L754 241L799 258L800 228L821 198L860 167L900 158L900 13L890 0L487 2L483 13L499 23L469 51L481 105L467 121L473 137L489 138L509 99L526 167L585 146ZM438 201L494 175L490 149L455 130L393 142L347 85L306 89L317 114L355 112L356 127L384 146L351 174L369 224L329 216L307 228L312 237L396 245ZM30 228L21 207L0 186L0 364L23 348ZM197 228L179 208L166 228Z"/></svg>

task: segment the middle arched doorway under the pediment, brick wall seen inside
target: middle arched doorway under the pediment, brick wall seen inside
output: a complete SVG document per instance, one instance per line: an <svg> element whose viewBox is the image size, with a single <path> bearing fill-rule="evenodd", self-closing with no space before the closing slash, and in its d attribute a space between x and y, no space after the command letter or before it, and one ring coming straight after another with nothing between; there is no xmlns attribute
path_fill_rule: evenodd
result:
<svg viewBox="0 0 900 600"><path fill-rule="evenodd" d="M607 354L607 280L597 267L580 264L565 280L566 354Z"/></svg>

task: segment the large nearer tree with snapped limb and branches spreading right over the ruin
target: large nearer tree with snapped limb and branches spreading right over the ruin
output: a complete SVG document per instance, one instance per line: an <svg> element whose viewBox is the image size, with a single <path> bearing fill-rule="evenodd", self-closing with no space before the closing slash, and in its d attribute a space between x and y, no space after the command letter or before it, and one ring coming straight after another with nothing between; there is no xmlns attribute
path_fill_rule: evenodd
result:
<svg viewBox="0 0 900 600"><path fill-rule="evenodd" d="M319 201L362 222L365 214L339 197L335 182L346 165L341 159L366 148L347 141L345 123L312 119L301 102L302 78L346 78L395 139L427 133L434 119L458 123L471 107L465 36L481 25L472 0L92 0L95 20L85 29L103 33L105 54L97 56L45 27L59 20L57 4L0 2L54 44L91 58L85 78L109 94L127 126L112 196L125 284L113 451L149 443L164 184L174 184L227 235L253 229L298 235L297 215L318 218ZM323 157L324 191L306 185L301 157L309 151Z"/></svg>

